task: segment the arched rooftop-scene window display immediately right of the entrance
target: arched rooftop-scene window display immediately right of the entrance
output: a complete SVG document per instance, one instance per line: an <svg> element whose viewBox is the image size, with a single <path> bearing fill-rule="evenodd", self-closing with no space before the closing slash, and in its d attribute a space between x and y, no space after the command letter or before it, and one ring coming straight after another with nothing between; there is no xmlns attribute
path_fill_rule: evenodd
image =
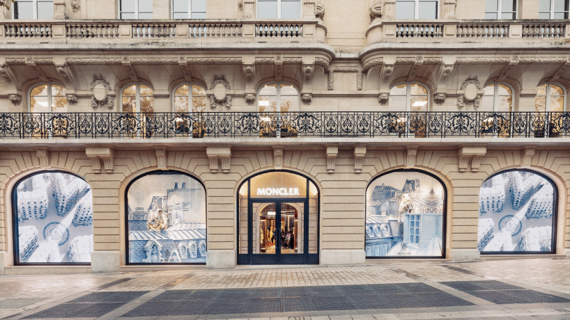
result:
<svg viewBox="0 0 570 320"><path fill-rule="evenodd" d="M367 257L442 257L445 191L414 170L381 175L368 186Z"/></svg>

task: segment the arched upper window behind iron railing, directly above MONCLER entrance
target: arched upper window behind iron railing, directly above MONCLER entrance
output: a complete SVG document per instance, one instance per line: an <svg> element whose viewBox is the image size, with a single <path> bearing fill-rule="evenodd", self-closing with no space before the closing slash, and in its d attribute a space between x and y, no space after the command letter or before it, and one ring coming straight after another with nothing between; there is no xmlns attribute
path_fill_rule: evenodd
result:
<svg viewBox="0 0 570 320"><path fill-rule="evenodd" d="M288 83L268 83L259 90L259 112L299 111L299 92Z"/></svg>

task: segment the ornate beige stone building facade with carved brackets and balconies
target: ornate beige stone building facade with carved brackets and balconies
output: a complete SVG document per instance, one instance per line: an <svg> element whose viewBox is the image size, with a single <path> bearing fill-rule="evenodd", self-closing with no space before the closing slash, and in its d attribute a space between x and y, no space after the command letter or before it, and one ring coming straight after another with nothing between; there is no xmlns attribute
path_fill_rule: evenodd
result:
<svg viewBox="0 0 570 320"><path fill-rule="evenodd" d="M298 248L266 239L261 252L285 256L287 246L311 256L301 263L363 264L372 258L367 218L381 213L367 209L369 186L397 172L440 183L442 237L431 243L453 260L480 259L479 241L494 241L493 228L507 230L479 224L486 180L505 170L536 173L554 186L553 214L541 208L552 222L534 237L540 245L528 240L532 232L511 230L512 237L527 234L527 254L570 255L569 1L555 2L139 0L131 8L53 0L0 8L0 274L172 267L160 263L169 260L164 253L152 260L159 246L128 227L128 208L140 209L127 195L132 183L167 171L203 186L208 268L261 262L252 246L273 230L255 231L248 215L259 212L264 223L305 237ZM17 188L55 171L91 188L89 265L19 261L48 237L38 230L26 248L17 246L25 229L17 225ZM275 181L266 182L276 190L271 200L256 198L252 177L270 172L306 178L306 200L295 202L296 185ZM526 211L533 195L514 209ZM256 211L271 201L282 209ZM413 207L394 201L409 227ZM135 238L157 264L129 262ZM72 256L85 255L76 247ZM199 247L172 261L201 257Z"/></svg>

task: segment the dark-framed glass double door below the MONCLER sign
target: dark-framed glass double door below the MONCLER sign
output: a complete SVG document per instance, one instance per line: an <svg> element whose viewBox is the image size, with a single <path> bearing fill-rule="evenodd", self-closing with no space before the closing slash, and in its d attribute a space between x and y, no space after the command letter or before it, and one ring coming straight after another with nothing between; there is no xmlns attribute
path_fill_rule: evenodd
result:
<svg viewBox="0 0 570 320"><path fill-rule="evenodd" d="M252 263L305 263L305 202L252 201Z"/></svg>

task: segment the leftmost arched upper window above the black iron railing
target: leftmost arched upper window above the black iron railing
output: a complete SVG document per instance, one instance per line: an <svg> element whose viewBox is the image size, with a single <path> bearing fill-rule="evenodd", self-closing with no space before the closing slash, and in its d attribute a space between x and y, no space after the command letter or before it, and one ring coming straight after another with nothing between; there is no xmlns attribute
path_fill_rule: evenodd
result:
<svg viewBox="0 0 570 320"><path fill-rule="evenodd" d="M30 90L30 112L67 112L66 88L43 84Z"/></svg>

